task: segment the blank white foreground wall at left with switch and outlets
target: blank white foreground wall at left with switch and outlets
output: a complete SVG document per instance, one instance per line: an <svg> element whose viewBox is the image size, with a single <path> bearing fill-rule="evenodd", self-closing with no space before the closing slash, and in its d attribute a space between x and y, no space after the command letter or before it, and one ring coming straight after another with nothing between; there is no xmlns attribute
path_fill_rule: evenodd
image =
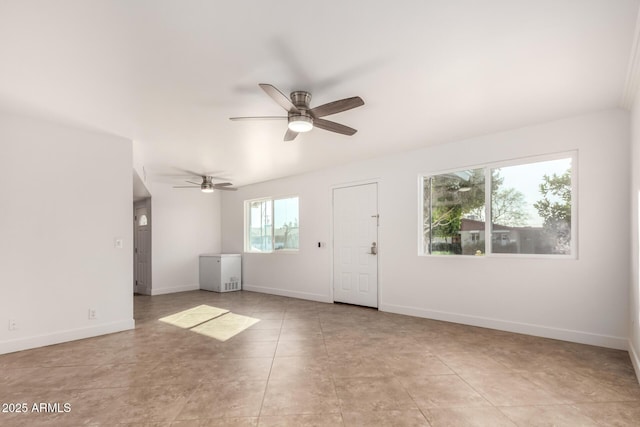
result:
<svg viewBox="0 0 640 427"><path fill-rule="evenodd" d="M0 353L133 328L131 170L131 141L0 112Z"/></svg>

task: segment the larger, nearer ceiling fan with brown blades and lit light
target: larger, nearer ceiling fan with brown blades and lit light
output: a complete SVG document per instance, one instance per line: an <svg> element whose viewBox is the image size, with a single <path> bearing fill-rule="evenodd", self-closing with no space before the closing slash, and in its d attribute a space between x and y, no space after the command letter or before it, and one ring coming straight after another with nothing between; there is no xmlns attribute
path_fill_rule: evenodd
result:
<svg viewBox="0 0 640 427"><path fill-rule="evenodd" d="M311 94L305 91L291 92L290 98L287 98L275 86L260 83L258 86L264 90L275 102L287 111L286 116L262 116L262 117L231 117L230 120L279 120L287 119L288 129L284 134L285 141L293 141L299 133L308 132L315 127L340 133L343 135L353 135L357 130L340 123L322 119L321 117L331 114L340 113L342 111L351 110L352 108L364 105L364 101L359 96L340 99L338 101L329 102L315 108L309 107Z"/></svg>

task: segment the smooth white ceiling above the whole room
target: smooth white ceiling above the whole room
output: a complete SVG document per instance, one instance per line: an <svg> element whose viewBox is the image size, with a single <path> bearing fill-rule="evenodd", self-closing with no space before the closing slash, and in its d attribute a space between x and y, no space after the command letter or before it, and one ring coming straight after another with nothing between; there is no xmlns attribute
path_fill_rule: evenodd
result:
<svg viewBox="0 0 640 427"><path fill-rule="evenodd" d="M0 106L238 185L620 105L639 0L0 2ZM359 95L283 142L258 87ZM55 161L55 159L52 159Z"/></svg>

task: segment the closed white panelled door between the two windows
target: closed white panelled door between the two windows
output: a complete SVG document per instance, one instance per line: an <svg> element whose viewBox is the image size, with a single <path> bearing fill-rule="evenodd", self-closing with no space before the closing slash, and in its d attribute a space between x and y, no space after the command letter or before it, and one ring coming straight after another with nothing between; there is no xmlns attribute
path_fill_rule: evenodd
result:
<svg viewBox="0 0 640 427"><path fill-rule="evenodd" d="M334 189L334 301L378 307L377 243L378 184Z"/></svg>

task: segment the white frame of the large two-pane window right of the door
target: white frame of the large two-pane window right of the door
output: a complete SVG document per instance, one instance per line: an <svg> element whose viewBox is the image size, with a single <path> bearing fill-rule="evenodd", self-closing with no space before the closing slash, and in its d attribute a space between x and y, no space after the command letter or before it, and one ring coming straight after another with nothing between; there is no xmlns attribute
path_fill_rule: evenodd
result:
<svg viewBox="0 0 640 427"><path fill-rule="evenodd" d="M494 253L492 251L491 238L493 236L493 224L491 223L491 170L510 166L520 166L530 163L539 163L551 160L571 159L571 253L563 254L512 254ZM485 253L483 256L472 255L433 255L424 251L424 181L430 177L447 173L459 172L468 169L484 169L485 171ZM578 150L562 151L514 159L502 160L491 163L476 164L471 166L461 166L454 169L434 171L418 176L418 256L435 258L461 258L461 259L483 259L491 258L546 258L560 260L578 259Z"/></svg>

